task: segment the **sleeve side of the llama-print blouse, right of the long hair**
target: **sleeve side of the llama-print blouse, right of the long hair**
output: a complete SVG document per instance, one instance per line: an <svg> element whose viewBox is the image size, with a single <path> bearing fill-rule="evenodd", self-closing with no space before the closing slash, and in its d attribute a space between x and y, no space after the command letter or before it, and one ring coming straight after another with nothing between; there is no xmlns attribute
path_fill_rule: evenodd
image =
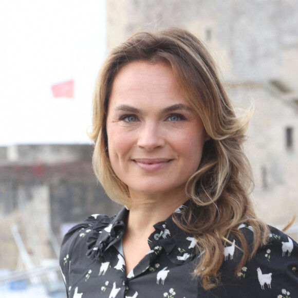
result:
<svg viewBox="0 0 298 298"><path fill-rule="evenodd" d="M251 227L244 227L248 243L253 241ZM285 233L270 227L266 246L260 247L239 272L235 268L242 253L235 246L225 248L221 266L221 286L213 294L222 297L298 297L298 244Z"/></svg>

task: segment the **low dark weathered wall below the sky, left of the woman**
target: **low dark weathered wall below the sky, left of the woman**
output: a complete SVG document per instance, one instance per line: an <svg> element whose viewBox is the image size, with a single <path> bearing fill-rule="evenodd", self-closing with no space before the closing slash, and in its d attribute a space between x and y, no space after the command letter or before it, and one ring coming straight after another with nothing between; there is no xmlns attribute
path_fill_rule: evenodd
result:
<svg viewBox="0 0 298 298"><path fill-rule="evenodd" d="M92 171L91 145L20 145L0 152L0 268L24 268L16 225L34 266L55 258L62 236L94 213L112 215ZM13 154L12 154L13 151Z"/></svg>

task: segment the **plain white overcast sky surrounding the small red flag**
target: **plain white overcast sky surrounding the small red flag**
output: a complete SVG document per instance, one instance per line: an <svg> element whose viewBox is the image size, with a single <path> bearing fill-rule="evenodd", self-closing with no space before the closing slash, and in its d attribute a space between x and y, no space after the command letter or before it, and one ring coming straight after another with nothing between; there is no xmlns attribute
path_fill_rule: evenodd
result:
<svg viewBox="0 0 298 298"><path fill-rule="evenodd" d="M88 142L105 26L105 0L0 0L0 146Z"/></svg>

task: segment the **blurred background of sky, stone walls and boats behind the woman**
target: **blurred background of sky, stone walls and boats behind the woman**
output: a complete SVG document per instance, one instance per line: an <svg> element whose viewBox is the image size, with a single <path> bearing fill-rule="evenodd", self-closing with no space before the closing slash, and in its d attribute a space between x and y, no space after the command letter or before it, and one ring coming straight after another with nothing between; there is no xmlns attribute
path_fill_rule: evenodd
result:
<svg viewBox="0 0 298 298"><path fill-rule="evenodd" d="M112 203L92 173L95 79L136 30L179 26L210 48L237 108L255 111L246 152L258 215L298 213L298 3L294 0L1 0L0 293L65 297L65 232ZM297 220L287 231L298 240Z"/></svg>

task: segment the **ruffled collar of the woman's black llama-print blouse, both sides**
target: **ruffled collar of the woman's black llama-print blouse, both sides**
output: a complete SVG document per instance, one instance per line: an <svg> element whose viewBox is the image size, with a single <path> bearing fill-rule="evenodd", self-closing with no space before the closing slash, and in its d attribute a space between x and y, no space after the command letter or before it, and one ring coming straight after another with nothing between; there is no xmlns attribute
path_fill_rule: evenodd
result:
<svg viewBox="0 0 298 298"><path fill-rule="evenodd" d="M181 205L174 213L178 215L187 208L189 201ZM87 239L87 257L99 259L111 246L115 245L124 234L128 210L123 208L114 217L98 215L91 227ZM154 225L155 231L148 238L150 254L159 254L161 250L175 264L188 263L196 256L196 240L193 235L182 231L173 221L172 215Z"/></svg>

